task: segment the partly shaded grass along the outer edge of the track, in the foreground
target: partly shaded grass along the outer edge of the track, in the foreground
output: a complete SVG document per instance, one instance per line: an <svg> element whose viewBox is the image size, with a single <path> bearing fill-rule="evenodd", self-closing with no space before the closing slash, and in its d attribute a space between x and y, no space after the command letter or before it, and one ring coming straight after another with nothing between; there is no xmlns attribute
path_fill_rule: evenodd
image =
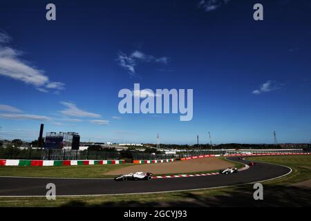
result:
<svg viewBox="0 0 311 221"><path fill-rule="evenodd" d="M290 166L290 175L263 182L264 200L254 200L253 186L220 189L151 193L138 195L106 195L96 197L0 198L0 206L311 206L311 190L292 186L311 177L311 156L249 157L249 160Z"/></svg>

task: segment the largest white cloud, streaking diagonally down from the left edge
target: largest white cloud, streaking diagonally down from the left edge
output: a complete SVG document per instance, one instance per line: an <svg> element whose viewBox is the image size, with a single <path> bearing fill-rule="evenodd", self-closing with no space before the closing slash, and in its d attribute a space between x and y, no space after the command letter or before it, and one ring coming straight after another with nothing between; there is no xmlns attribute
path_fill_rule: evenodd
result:
<svg viewBox="0 0 311 221"><path fill-rule="evenodd" d="M10 37L0 32L0 75L10 77L15 80L23 81L26 84L35 86L41 92L47 92L46 89L51 88L63 90L65 84L60 82L50 82L44 70L39 70L35 66L31 66L28 62L20 59L22 52L3 46L10 41Z"/></svg>

